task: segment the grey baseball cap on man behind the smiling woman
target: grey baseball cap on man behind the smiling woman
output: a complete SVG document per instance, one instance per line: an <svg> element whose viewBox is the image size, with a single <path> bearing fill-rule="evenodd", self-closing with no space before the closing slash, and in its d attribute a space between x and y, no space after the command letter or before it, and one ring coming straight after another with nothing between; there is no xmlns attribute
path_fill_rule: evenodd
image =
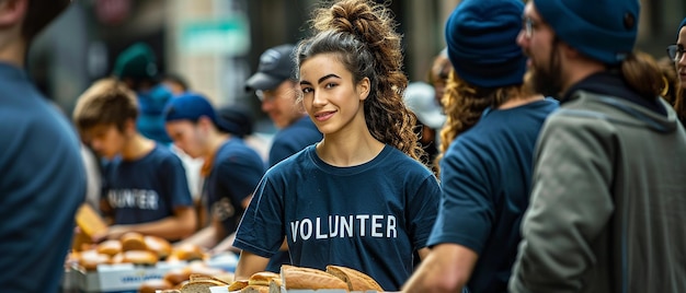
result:
<svg viewBox="0 0 686 293"><path fill-rule="evenodd" d="M265 50L260 56L258 72L245 82L247 90L274 90L282 82L294 79L296 68L293 52L295 46L285 44Z"/></svg>

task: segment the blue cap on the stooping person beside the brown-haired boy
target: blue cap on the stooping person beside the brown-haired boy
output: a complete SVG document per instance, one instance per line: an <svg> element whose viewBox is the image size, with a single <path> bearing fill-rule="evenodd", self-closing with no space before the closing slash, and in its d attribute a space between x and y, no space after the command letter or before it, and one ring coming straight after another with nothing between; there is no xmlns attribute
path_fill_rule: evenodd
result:
<svg viewBox="0 0 686 293"><path fill-rule="evenodd" d="M164 107L164 121L191 120L197 121L201 117L207 117L219 129L229 133L240 133L236 125L217 119L215 108L209 101L197 93L184 93L167 103Z"/></svg>

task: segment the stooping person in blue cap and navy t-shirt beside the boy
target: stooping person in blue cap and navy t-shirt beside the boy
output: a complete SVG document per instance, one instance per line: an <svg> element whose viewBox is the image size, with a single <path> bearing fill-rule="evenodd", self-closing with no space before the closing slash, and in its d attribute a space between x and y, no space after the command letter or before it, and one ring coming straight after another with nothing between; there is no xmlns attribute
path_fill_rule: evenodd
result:
<svg viewBox="0 0 686 293"><path fill-rule="evenodd" d="M244 126L235 119L220 119L203 95L182 94L167 104L163 115L174 144L205 161L201 194L210 221L183 243L213 253L231 249L232 234L264 174L262 157L241 139Z"/></svg>

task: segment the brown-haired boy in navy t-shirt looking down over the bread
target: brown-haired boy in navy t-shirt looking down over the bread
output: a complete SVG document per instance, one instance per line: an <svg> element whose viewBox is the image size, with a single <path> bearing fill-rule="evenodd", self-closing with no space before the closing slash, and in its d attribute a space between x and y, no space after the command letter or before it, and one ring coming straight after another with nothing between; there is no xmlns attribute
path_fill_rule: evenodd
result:
<svg viewBox="0 0 686 293"><path fill-rule="evenodd" d="M126 232L178 241L196 226L195 210L181 160L136 129L136 95L112 79L95 82L73 113L82 140L107 160L101 210L112 224L95 238Z"/></svg>

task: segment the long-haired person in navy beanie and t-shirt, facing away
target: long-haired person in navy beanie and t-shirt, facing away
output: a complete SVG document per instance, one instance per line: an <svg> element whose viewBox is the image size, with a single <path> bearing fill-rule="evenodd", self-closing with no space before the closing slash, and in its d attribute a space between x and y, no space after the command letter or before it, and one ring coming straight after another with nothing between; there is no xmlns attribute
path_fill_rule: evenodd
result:
<svg viewBox="0 0 686 293"><path fill-rule="evenodd" d="M403 292L507 292L536 140L558 108L525 85L523 11L521 0L464 0L448 17L441 209Z"/></svg>

